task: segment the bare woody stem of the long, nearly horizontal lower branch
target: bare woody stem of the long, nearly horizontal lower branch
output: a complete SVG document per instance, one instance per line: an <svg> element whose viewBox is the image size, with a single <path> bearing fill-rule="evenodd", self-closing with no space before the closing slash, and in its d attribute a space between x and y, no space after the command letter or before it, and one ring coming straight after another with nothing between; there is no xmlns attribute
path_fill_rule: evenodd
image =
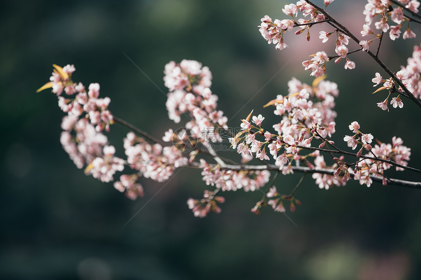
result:
<svg viewBox="0 0 421 280"><path fill-rule="evenodd" d="M211 167L216 167L216 165L209 165ZM199 163L193 162L185 167L187 168L194 168L194 169L201 169ZM306 173L321 173L321 174L328 174L328 175L334 175L334 172L336 170L334 169L311 169L309 167L304 166L291 166L291 169L294 172L306 172ZM276 170L279 171L279 167L273 164L268 165L226 165L224 168L221 168L221 170L232 170L232 171L262 171L262 170ZM350 172L351 178L354 177L354 173ZM421 182L415 182L415 181L406 181L406 180L400 180L400 179L393 179L393 178L387 178L387 177L380 177L380 176L374 176L370 175L370 178L372 178L373 181L382 183L384 179L386 179L386 182L390 185L395 186L401 186L405 188L412 188L412 189L421 189Z"/></svg>

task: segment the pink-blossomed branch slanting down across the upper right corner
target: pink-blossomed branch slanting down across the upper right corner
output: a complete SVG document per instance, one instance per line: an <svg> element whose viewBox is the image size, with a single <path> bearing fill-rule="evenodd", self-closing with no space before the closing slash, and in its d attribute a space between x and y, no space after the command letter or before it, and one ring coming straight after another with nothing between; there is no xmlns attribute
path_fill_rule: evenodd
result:
<svg viewBox="0 0 421 280"><path fill-rule="evenodd" d="M325 0L325 8L330 4L332 1ZM413 101L415 104L417 104L419 107L421 107L421 102L418 99L419 95L413 92L414 86L410 85L407 80L404 78L395 75L394 72L392 72L379 58L378 58L378 52L380 49L380 43L382 40L383 32L386 32L390 29L389 35L391 40L395 40L399 37L400 34L400 28L403 25L403 22L408 22L407 30L403 34L403 39L407 38L414 38L415 33L412 32L412 30L409 27L409 22L413 21L409 17L405 16L403 14L403 9L410 10L413 12L418 12L418 6L420 3L417 0L411 0L407 3L407 5L402 8L401 6L398 6L396 8L391 8L391 2L388 0L385 1L374 1L369 0L368 4L365 7L364 14L366 15L366 24L364 24L364 29L361 31L362 36L367 36L370 34L374 34L374 32L370 29L370 24L373 22L373 19L375 16L380 15L381 19L378 22L375 22L376 29L381 29L382 33L381 35L376 35L376 37L373 40L370 41L360 41L354 34L352 34L349 29L335 20L333 17L331 17L323 8L317 6L315 3L313 3L311 0L301 0L298 1L297 4L289 4L285 5L285 8L282 9L283 13L286 15L289 15L292 17L292 20L274 20L269 16L265 16L261 19L260 27L260 33L262 36L268 41L268 43L275 43L276 48L283 49L287 47L287 44L284 43L284 34L287 31L291 31L293 27L301 26L302 28L295 32L295 34L301 34L305 30L307 31L307 40L310 40L310 27L322 23L327 22L331 26L334 27L334 32L326 32L326 31L320 31L319 38L323 40L323 43L327 42L329 37L332 34L336 34L336 47L335 52L337 53L337 56L327 56L325 51L319 51L316 54L312 55L313 58L309 61L304 61L303 65L305 70L311 69L311 75L312 76L321 76L326 71L326 63L333 59L335 59L335 63L339 63L341 59L346 58L345 63L345 69L353 69L355 68L355 63L352 62L347 56L359 51L364 50L366 51L373 59L374 61L380 65L383 70L390 75L391 80L389 82L389 89L393 89L392 92L397 92L398 97L400 94L404 97L409 98L411 101ZM298 20L300 22L299 24L294 19L294 15L297 16L298 12L302 12L304 17L310 16L310 19L304 19L301 18ZM387 24L388 18L391 18L393 22L396 22L398 25L395 26L389 26ZM348 51L348 39L351 39L355 43L358 43L362 46L361 49L355 50L355 51ZM375 39L380 39L377 51L374 54L370 49L369 45L373 43ZM395 86L395 83L397 86ZM409 86L409 88L408 88ZM395 90L396 88L396 90Z"/></svg>

